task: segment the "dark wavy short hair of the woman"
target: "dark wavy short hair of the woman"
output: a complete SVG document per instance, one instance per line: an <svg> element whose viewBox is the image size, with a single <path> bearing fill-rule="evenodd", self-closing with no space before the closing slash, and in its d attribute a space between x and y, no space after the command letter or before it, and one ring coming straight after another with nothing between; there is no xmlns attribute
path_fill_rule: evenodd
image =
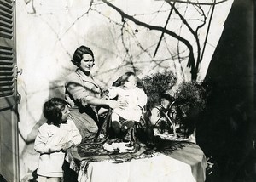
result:
<svg viewBox="0 0 256 182"><path fill-rule="evenodd" d="M82 45L79 48L77 48L75 50L75 52L73 53L73 60L71 60L73 62L73 65L79 66L81 64L81 60L83 59L84 54L90 54L92 56L92 58L94 59L92 50L90 48Z"/></svg>

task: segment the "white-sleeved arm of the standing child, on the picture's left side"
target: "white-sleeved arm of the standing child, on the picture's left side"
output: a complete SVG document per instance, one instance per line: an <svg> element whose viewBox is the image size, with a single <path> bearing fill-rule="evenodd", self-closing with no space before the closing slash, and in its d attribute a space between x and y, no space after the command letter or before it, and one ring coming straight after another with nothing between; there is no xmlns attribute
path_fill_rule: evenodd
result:
<svg viewBox="0 0 256 182"><path fill-rule="evenodd" d="M38 151L41 154L61 151L61 145L55 145L53 142L49 142L49 133L44 126L45 125L38 129L38 135L34 143L35 151Z"/></svg>

